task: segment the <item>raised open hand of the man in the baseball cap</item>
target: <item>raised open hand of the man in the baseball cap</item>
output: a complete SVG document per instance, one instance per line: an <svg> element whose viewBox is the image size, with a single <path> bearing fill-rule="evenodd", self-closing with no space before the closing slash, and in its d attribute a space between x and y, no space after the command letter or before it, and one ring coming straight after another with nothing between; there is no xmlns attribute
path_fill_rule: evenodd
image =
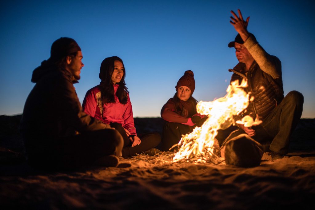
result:
<svg viewBox="0 0 315 210"><path fill-rule="evenodd" d="M231 10L231 13L234 17L232 16L230 17L231 18L230 23L234 26L235 30L241 35L243 41L245 42L245 40L249 36L249 33L247 31L249 17L247 17L246 21L244 21L241 10L238 9L237 11L239 17L237 16L237 14L235 14L235 12Z"/></svg>

